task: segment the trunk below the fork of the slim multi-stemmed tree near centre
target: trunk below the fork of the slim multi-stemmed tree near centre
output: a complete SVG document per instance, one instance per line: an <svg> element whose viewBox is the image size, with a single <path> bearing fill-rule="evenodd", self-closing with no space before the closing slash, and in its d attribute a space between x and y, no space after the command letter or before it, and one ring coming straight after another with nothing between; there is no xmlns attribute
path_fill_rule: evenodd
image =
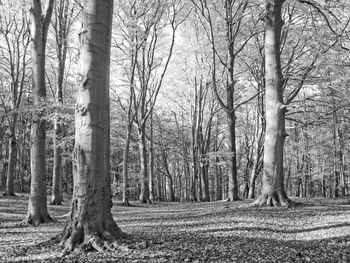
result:
<svg viewBox="0 0 350 263"><path fill-rule="evenodd" d="M139 202L147 203L149 200L148 172L147 172L147 147L145 126L138 129L139 151L140 151L140 195Z"/></svg>

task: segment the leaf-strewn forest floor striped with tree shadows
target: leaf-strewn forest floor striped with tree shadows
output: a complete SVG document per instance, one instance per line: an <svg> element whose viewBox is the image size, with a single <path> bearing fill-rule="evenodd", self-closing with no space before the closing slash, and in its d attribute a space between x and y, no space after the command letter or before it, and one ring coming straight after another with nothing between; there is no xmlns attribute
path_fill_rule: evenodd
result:
<svg viewBox="0 0 350 263"><path fill-rule="evenodd" d="M69 204L50 206L57 222L21 226L28 196L0 197L0 262L350 262L350 199L296 199L295 208L235 203L115 201L114 219L136 245L62 256L50 240Z"/></svg>

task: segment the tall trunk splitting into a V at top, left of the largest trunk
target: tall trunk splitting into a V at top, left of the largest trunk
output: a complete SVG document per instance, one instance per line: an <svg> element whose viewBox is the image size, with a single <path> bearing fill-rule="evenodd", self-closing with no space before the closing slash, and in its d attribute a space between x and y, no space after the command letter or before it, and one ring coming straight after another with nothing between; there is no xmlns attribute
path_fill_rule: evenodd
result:
<svg viewBox="0 0 350 263"><path fill-rule="evenodd" d="M32 86L35 111L31 126L31 182L27 217L24 222L38 225L51 221L46 197L46 121L43 110L46 100L45 51L54 0L42 13L41 1L31 1Z"/></svg>

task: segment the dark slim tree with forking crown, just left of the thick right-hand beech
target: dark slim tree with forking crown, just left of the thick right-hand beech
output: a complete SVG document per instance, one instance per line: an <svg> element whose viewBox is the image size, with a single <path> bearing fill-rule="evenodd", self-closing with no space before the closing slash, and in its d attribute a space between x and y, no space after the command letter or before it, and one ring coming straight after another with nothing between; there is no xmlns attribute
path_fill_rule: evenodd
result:
<svg viewBox="0 0 350 263"><path fill-rule="evenodd" d="M237 67L237 58L242 50L245 48L249 40L257 34L255 31L256 22L253 21L253 30L249 28L251 21L246 21L246 12L248 9L248 1L246 0L225 0L221 4L216 2L209 3L207 0L192 0L193 4L201 13L204 21L203 27L211 43L212 52L212 90L221 106L226 112L227 117L227 133L228 133L228 201L237 201L238 197L238 181L237 181L237 146L236 146L236 111L237 109L250 101L238 101L236 84L238 77L235 72ZM253 7L254 8L254 7ZM220 9L220 11L219 11ZM214 11L213 11L214 10ZM216 16L213 13L216 12ZM222 55L218 48L216 30L214 28L214 20L223 20L223 27L225 28L225 45L224 55ZM244 32L244 33L243 33ZM243 35L242 35L243 34ZM244 37L240 39L240 37ZM220 96L217 85L217 67L216 61L219 60L224 68L224 77L222 83L224 86L224 96ZM226 101L226 102L225 102Z"/></svg>

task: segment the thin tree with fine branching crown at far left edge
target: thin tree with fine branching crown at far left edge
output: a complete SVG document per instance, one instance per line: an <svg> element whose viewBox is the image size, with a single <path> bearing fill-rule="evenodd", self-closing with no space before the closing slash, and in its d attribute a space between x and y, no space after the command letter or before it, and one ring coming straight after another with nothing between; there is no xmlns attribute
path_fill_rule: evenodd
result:
<svg viewBox="0 0 350 263"><path fill-rule="evenodd" d="M1 55L4 61L0 68L6 73L5 82L10 86L10 112L7 114L9 123L8 169L6 178L6 191L4 195L15 195L14 177L17 157L17 120L22 94L27 82L29 30L28 19L23 4L3 3L1 6L2 19L0 21ZM6 11L5 11L6 8ZM20 10L20 12L19 12ZM20 15L17 15L18 12Z"/></svg>

